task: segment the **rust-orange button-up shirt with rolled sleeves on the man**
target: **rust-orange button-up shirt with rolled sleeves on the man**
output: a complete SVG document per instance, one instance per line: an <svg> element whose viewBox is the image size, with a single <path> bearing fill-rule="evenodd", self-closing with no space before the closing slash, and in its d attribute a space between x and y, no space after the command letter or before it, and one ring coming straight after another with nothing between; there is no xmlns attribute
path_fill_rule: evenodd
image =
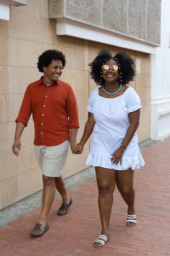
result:
<svg viewBox="0 0 170 256"><path fill-rule="evenodd" d="M70 84L58 80L47 87L42 78L28 85L15 120L27 126L33 114L36 146L56 146L70 139L70 128L79 128L78 107Z"/></svg>

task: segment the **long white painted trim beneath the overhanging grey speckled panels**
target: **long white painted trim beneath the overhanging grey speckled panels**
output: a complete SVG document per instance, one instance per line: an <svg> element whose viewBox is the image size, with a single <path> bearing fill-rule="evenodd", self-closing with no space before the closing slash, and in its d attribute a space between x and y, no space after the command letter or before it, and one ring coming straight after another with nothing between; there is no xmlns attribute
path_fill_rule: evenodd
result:
<svg viewBox="0 0 170 256"><path fill-rule="evenodd" d="M155 45L66 18L57 18L57 35L73 36L125 49L155 54Z"/></svg>

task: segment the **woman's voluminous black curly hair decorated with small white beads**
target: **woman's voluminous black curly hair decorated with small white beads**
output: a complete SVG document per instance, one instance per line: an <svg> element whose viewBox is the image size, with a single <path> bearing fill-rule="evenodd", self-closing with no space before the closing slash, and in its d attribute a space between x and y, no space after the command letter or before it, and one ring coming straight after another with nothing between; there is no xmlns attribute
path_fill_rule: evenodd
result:
<svg viewBox="0 0 170 256"><path fill-rule="evenodd" d="M102 49L92 63L88 65L91 67L91 78L97 83L97 85L104 85L105 81L101 76L102 65L106 61L113 59L114 61L119 61L118 70L119 74L121 72L121 83L123 85L129 84L130 81L134 80L135 76L135 63L133 59L126 52L118 52L112 57L111 52L108 49Z"/></svg>

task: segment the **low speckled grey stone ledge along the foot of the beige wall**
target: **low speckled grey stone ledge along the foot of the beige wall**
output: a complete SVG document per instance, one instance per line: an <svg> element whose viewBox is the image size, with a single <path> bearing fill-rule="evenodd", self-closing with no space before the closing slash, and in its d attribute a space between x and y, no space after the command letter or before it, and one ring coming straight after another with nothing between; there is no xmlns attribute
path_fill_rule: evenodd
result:
<svg viewBox="0 0 170 256"><path fill-rule="evenodd" d="M155 144L155 140L147 139L139 144L140 150ZM67 190L73 189L82 182L89 180L95 176L95 168L90 166L71 177L65 179ZM58 196L59 193L56 191L55 196ZM15 204L10 205L2 210L0 210L0 227L8 224L9 222L16 220L23 216L24 214L33 211L37 207L40 207L42 204L42 191L39 191L28 198L16 202Z"/></svg>

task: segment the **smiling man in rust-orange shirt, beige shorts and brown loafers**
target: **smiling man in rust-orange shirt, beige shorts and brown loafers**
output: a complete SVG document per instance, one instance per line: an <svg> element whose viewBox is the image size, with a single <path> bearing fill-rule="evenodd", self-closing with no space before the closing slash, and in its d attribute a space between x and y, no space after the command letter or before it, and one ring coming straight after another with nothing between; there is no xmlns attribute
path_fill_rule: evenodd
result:
<svg viewBox="0 0 170 256"><path fill-rule="evenodd" d="M43 52L38 59L38 69L43 73L40 80L28 85L16 121L13 153L18 156L20 137L31 114L34 121L34 149L43 180L42 212L32 229L31 236L42 236L49 230L47 221L55 197L55 189L62 196L57 214L68 212L72 204L66 191L61 171L68 153L69 144L73 153L82 153L77 146L79 128L78 107L70 84L60 80L66 65L65 56L55 49Z"/></svg>

